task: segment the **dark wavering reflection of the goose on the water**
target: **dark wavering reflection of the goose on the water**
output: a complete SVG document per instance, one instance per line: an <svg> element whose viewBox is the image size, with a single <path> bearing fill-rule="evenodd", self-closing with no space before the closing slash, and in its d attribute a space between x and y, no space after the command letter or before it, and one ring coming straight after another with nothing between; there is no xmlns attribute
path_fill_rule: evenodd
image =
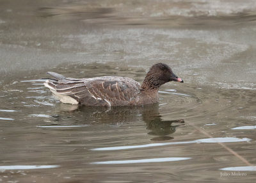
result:
<svg viewBox="0 0 256 183"><path fill-rule="evenodd" d="M55 122L63 123L61 121L65 118L74 118L79 125L81 123L106 123L109 125L122 125L124 123L136 123L143 121L146 124L147 134L156 136L152 141L164 141L173 139L168 136L176 131L180 125L184 125L184 120L163 120L159 114L159 104L151 104L146 106L124 106L124 107L74 107L67 104L60 104L58 108L59 115L54 117ZM65 118L63 118L65 115Z"/></svg>

